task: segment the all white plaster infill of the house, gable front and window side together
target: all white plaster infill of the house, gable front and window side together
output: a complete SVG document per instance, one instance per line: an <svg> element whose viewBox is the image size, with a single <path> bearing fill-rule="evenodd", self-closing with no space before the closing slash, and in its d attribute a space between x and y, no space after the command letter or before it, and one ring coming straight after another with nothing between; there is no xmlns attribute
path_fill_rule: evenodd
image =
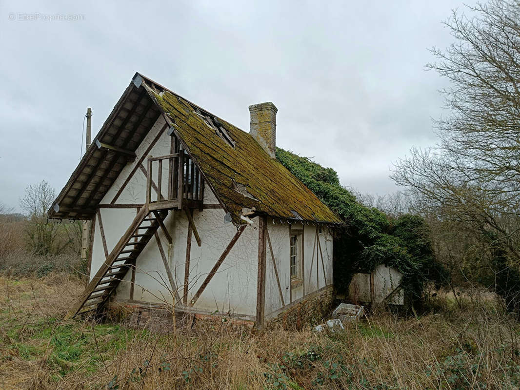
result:
<svg viewBox="0 0 520 390"><path fill-rule="evenodd" d="M154 124L145 140L136 151L137 158L123 168L120 176L115 180L101 204L109 204L115 194L123 185L128 175L133 170L139 157L146 151L152 140L157 136L164 120L159 118ZM148 153L153 156L170 154L171 138L166 131ZM146 160L143 163L146 166ZM167 171L167 167L163 167ZM153 175L157 183L157 170ZM167 178L163 176L163 195L166 196ZM155 192L152 190L152 196ZM146 197L146 177L137 169L134 176L129 180L125 189L122 191L116 204L144 203ZM155 199L155 198L152 198ZM206 184L204 188L204 204L217 204L218 200L211 188ZM100 209L103 227L109 252L116 242L124 234L128 226L135 218L136 209ZM190 271L188 283L188 302L197 292L200 285L215 265L217 259L222 254L231 238L236 233L236 228L232 224L224 223L225 212L223 209L204 209L202 212L194 210L193 220L196 225L202 245L197 245L196 239L192 236ZM195 309L207 311L218 310L227 313L231 311L235 314L255 316L256 314L256 278L258 261L258 218L253 219L254 223L245 228L235 246L227 255L225 261L220 266L210 283L205 288L202 295L194 305ZM174 279L180 297L183 297L184 271L186 263L186 242L188 232L188 220L184 211L171 211L165 219L165 226L172 236L172 244L169 244L161 229L158 230L161 243L167 256L168 265L172 269ZM295 226L295 225L293 225ZM301 226L301 225L300 225ZM321 258L319 258L319 283L316 283L316 248L313 271L309 272L312 261L312 252L316 226L306 225L304 230L304 264L305 264L305 294L316 291L324 287L323 271L321 268ZM268 218L268 231L272 242L275 258L277 262L280 283L284 296L285 304L291 302L290 292L287 287L290 285L289 275L289 225L275 225L272 219ZM323 261L326 266L327 284L332 283L332 239L326 228L322 228L319 235ZM270 251L267 248L266 254L266 307L265 313L272 313L282 307L278 292L278 285L274 274L274 267ZM94 276L105 260L105 253L99 232L99 222L96 221L94 233L93 258L91 267L91 277ZM120 283L116 291L116 299L126 300L130 297L131 272L128 272L123 282ZM173 297L169 291L169 281L162 258L154 238L150 240L142 251L136 263L136 277L134 286L134 300L154 302L154 303L173 303ZM303 295L303 287L293 291L292 301Z"/></svg>

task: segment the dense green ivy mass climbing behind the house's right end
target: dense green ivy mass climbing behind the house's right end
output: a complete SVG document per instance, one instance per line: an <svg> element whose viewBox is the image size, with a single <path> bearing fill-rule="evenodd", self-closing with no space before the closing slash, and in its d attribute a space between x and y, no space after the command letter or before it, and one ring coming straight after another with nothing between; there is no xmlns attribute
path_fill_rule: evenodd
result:
<svg viewBox="0 0 520 390"><path fill-rule="evenodd" d="M280 148L276 158L343 219L334 235L334 285L340 293L348 292L356 272L370 272L380 264L403 274L402 286L413 301L420 299L426 281L438 279L440 271L422 217L389 217L357 202L332 168Z"/></svg>

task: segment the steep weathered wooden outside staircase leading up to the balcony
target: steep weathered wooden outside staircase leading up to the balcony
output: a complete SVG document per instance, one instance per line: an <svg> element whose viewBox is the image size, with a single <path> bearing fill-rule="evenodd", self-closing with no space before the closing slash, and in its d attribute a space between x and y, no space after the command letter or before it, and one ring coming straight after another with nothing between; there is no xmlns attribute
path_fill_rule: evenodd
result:
<svg viewBox="0 0 520 390"><path fill-rule="evenodd" d="M150 211L147 205L141 207L132 224L64 319L88 312L99 312L126 272L135 266L137 257L158 228L163 226L167 215L168 210Z"/></svg>

